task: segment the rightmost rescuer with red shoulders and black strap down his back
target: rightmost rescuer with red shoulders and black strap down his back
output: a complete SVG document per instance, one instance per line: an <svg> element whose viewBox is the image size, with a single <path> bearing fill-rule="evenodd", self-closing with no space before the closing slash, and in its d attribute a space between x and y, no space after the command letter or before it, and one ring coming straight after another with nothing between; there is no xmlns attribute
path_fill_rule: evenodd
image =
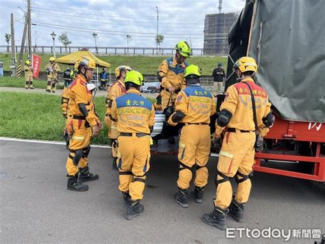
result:
<svg viewBox="0 0 325 244"><path fill-rule="evenodd" d="M217 118L215 141L220 140L225 131L219 162L217 164L217 192L215 208L210 214L204 214L202 220L220 230L226 230L226 214L234 220L243 221L243 209L250 196L252 183L252 166L254 164L254 144L256 140L252 96L256 104L257 130L263 131L274 122L267 92L256 85L252 79L257 71L254 58L245 56L239 58L233 67L240 82L228 87L226 98L221 104ZM237 180L238 188L232 199L230 178Z"/></svg>

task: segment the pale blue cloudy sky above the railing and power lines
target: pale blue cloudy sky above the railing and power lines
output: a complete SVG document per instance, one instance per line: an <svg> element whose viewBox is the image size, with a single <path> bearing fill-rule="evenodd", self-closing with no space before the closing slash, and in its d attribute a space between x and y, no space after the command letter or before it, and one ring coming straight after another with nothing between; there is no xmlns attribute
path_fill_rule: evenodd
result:
<svg viewBox="0 0 325 244"><path fill-rule="evenodd" d="M71 45L94 46L92 33L97 33L97 46L125 47L126 35L130 47L155 47L156 6L159 12L159 34L165 36L162 47L173 47L177 41L191 41L193 47L203 47L205 14L216 13L219 1L63 1L32 2L32 45L51 45L51 32L67 32ZM241 10L244 0L223 0L224 12ZM23 10L26 0L1 1L0 45L6 45L4 35L10 33L10 13L14 14L16 45L21 45ZM58 37L58 36L57 36ZM58 39L56 39L57 45Z"/></svg>

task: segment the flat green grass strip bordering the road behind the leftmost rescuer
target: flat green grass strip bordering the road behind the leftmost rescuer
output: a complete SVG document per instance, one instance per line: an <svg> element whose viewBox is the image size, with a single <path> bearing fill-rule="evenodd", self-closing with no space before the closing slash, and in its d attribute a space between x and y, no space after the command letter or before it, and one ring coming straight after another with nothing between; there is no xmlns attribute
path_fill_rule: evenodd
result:
<svg viewBox="0 0 325 244"><path fill-rule="evenodd" d="M0 136L63 141L65 119L61 113L61 97L37 93L0 93ZM104 122L105 98L96 98L96 111ZM104 124L104 123L103 123ZM108 129L93 137L93 144L108 144Z"/></svg>

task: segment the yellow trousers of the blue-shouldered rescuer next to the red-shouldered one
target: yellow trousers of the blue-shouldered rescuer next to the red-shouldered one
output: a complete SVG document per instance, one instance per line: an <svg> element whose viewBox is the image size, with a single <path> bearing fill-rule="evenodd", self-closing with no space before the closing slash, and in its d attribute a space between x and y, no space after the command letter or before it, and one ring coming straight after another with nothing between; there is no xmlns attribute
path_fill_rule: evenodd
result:
<svg viewBox="0 0 325 244"><path fill-rule="evenodd" d="M192 179L191 168L196 166L194 184L204 187L208 183L208 156L210 155L210 127L206 125L189 124L182 128L178 149L180 172L177 185L187 189Z"/></svg>

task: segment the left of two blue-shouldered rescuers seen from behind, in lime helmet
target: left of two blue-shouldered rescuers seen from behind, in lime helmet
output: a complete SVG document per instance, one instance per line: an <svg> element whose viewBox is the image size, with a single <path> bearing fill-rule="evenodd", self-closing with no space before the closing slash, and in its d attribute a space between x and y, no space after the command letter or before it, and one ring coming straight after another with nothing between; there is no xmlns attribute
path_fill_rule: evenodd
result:
<svg viewBox="0 0 325 244"><path fill-rule="evenodd" d="M138 71L129 71L125 76L126 93L112 103L111 117L117 122L119 143L119 190L128 204L126 219L143 212L145 175L149 170L149 136L154 127L154 105L140 93L143 76Z"/></svg>

